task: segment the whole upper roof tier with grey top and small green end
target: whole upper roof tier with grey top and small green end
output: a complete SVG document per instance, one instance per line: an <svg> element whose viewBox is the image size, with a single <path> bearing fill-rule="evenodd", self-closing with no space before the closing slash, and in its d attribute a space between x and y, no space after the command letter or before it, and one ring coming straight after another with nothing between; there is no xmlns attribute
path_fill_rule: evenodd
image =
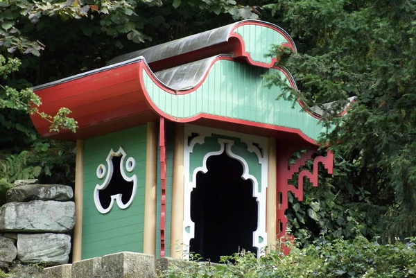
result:
<svg viewBox="0 0 416 278"><path fill-rule="evenodd" d="M261 31L269 31L270 34L281 38L276 40L276 37L270 35L261 36L259 35ZM245 33L250 33L250 40L248 40L248 36ZM265 40L269 39L274 40L275 44L283 44L296 51L295 42L293 42L291 36L284 29L266 21L247 19L188 37L182 37L171 42L151 46L147 49L126 53L113 58L108 64L116 64L143 56L151 69L159 71L166 69L166 66L175 67L217 54L232 53L234 58L245 56L252 65L272 67L276 62L275 60L271 58L270 61L267 60L266 62L262 60L263 56L270 51L270 44L264 43ZM256 40L259 40L259 42ZM238 43L234 44L234 42ZM256 50L250 49L250 44L256 44ZM253 53L255 51L261 53L255 54Z"/></svg>

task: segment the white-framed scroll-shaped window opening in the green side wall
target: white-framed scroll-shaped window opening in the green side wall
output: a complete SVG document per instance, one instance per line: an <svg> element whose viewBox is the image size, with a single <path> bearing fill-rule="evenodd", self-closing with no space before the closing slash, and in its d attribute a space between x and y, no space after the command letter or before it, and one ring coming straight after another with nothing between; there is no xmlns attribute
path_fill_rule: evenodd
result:
<svg viewBox="0 0 416 278"><path fill-rule="evenodd" d="M123 148L116 152L113 149L107 155L107 166L100 164L96 175L99 180L105 180L97 184L94 189L94 203L101 214L107 214L114 205L114 200L120 209L127 209L133 202L137 189L137 176L132 173L136 167L136 160L127 157Z"/></svg>

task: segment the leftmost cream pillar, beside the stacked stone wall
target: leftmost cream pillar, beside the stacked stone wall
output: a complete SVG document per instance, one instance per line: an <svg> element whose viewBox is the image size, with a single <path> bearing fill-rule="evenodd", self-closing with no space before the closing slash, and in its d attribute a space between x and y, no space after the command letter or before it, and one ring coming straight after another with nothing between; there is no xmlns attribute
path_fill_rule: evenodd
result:
<svg viewBox="0 0 416 278"><path fill-rule="evenodd" d="M76 141L75 162L75 227L73 228L72 261L81 260L83 243L84 141Z"/></svg>

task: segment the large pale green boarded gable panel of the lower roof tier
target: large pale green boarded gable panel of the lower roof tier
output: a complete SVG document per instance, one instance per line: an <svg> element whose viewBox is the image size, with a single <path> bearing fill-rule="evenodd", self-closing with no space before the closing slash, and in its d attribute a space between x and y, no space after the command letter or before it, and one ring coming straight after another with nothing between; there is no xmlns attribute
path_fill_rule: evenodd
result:
<svg viewBox="0 0 416 278"><path fill-rule="evenodd" d="M175 95L155 85L144 71L144 83L151 101L171 116L186 119L200 113L266 123L300 130L307 137L317 140L322 125L319 120L302 111L299 103L277 97L281 87L266 87L263 74L278 74L277 69L250 67L247 64L219 60L211 67L207 79L196 91ZM187 103L184 106L183 103Z"/></svg>

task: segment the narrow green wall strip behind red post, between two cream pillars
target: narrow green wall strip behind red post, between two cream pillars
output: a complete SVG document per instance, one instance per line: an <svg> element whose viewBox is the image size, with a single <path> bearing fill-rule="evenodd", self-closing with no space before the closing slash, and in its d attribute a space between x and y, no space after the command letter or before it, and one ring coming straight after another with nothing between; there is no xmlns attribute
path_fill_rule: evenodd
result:
<svg viewBox="0 0 416 278"><path fill-rule="evenodd" d="M173 176L173 144L175 126L166 123L166 225L165 225L165 257L171 256L171 219L172 219L172 176ZM157 191L156 191L156 257L160 257L160 203L162 198L162 182L160 180L160 148L157 145Z"/></svg>

